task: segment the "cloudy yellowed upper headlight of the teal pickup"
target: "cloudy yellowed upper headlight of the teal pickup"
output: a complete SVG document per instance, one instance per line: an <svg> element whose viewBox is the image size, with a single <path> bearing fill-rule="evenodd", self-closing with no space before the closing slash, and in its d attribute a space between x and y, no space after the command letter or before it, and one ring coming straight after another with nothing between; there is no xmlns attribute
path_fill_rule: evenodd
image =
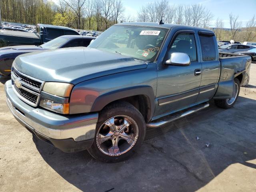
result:
<svg viewBox="0 0 256 192"><path fill-rule="evenodd" d="M70 83L46 82L43 91L60 97L69 97L73 86Z"/></svg>

